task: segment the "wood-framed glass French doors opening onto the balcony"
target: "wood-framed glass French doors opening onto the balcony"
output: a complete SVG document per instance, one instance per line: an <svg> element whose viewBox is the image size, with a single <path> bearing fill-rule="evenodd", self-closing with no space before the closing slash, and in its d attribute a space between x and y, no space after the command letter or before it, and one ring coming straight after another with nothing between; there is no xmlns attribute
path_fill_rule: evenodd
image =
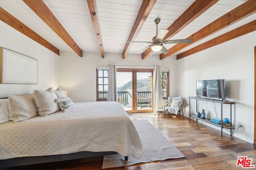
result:
<svg viewBox="0 0 256 170"><path fill-rule="evenodd" d="M117 69L118 102L127 113L153 111L153 70Z"/></svg>

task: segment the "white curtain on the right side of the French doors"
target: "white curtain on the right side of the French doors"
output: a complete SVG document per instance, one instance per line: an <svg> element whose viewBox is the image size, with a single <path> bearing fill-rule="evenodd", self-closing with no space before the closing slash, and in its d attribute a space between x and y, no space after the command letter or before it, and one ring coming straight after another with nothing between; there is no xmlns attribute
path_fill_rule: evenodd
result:
<svg viewBox="0 0 256 170"><path fill-rule="evenodd" d="M161 84L161 70L160 66L156 65L154 70L154 113L156 113L156 109L163 109L163 95L162 95L162 84Z"/></svg>

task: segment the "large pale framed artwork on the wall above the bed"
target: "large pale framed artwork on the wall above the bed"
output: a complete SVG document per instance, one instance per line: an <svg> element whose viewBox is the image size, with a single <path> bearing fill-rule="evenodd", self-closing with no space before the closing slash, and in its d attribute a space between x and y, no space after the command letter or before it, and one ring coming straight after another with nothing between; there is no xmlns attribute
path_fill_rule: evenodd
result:
<svg viewBox="0 0 256 170"><path fill-rule="evenodd" d="M1 84L38 84L38 60L0 47Z"/></svg>

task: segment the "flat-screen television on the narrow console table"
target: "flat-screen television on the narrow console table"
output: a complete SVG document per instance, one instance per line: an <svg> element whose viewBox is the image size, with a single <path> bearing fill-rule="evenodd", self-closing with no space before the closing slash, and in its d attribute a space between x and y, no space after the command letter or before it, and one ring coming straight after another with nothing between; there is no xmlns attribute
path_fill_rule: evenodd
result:
<svg viewBox="0 0 256 170"><path fill-rule="evenodd" d="M226 98L225 79L196 81L196 95L208 98Z"/></svg>

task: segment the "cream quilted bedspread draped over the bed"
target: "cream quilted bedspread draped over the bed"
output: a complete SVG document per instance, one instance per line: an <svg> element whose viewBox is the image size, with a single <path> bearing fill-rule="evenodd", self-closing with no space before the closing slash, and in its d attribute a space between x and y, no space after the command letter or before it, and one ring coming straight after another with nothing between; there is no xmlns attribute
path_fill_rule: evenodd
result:
<svg viewBox="0 0 256 170"><path fill-rule="evenodd" d="M0 160L115 151L141 158L143 148L131 119L117 102L75 103L68 112L0 125Z"/></svg>

